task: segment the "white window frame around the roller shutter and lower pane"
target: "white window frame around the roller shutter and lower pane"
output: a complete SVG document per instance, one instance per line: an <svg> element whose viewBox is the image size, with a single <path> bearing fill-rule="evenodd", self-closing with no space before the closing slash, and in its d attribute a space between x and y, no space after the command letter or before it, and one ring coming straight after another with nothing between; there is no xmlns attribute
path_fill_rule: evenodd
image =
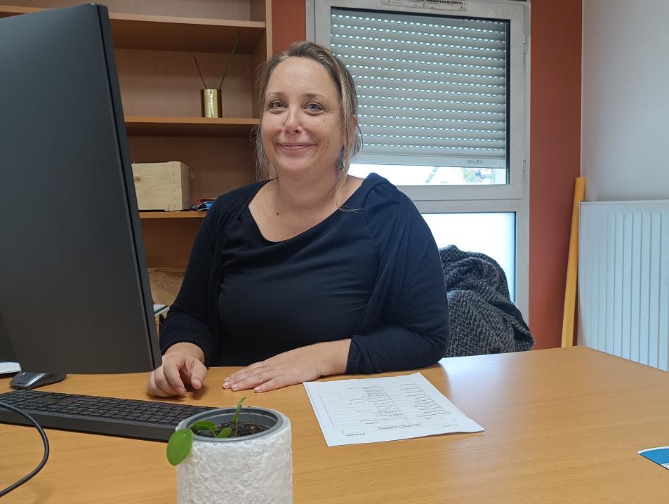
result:
<svg viewBox="0 0 669 504"><path fill-rule="evenodd" d="M509 183L505 185L398 186L420 213L515 213L515 304L529 320L529 16L522 0L467 0L465 11L390 6L381 0L307 0L307 40L330 46L331 7L423 15L463 15L510 20Z"/></svg>

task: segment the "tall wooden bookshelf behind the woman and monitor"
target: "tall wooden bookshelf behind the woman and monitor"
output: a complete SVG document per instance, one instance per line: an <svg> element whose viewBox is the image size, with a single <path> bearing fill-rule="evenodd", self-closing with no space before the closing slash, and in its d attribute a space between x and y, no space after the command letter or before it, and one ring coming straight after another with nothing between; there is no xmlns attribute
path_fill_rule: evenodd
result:
<svg viewBox="0 0 669 504"><path fill-rule="evenodd" d="M0 0L1 1L1 0ZM5 1L0 18L81 4ZM271 0L107 0L128 147L135 163L182 161L191 200L255 179L250 137L260 111L256 68L272 55ZM201 117L202 81L223 82L223 117ZM185 268L203 212L140 212L147 266Z"/></svg>

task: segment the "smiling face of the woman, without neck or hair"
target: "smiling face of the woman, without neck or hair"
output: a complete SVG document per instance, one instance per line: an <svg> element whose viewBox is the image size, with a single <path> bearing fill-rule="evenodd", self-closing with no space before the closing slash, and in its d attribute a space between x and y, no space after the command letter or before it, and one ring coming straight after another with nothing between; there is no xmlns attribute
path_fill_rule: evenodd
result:
<svg viewBox="0 0 669 504"><path fill-rule="evenodd" d="M267 83L261 138L277 175L336 175L343 146L339 94L322 65L307 58L277 65Z"/></svg>

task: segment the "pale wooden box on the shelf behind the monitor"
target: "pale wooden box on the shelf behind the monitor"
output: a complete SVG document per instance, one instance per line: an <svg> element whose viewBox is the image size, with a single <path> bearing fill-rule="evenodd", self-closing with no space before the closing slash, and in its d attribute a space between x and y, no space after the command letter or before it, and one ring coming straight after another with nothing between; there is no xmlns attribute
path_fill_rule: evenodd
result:
<svg viewBox="0 0 669 504"><path fill-rule="evenodd" d="M140 210L190 208L190 169L180 161L133 163Z"/></svg>

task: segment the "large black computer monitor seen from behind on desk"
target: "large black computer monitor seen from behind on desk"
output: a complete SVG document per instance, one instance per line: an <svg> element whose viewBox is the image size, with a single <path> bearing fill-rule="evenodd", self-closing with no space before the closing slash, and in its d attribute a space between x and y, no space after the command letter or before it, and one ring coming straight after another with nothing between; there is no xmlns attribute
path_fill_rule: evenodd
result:
<svg viewBox="0 0 669 504"><path fill-rule="evenodd" d="M104 6L0 19L3 337L26 371L161 362Z"/></svg>

